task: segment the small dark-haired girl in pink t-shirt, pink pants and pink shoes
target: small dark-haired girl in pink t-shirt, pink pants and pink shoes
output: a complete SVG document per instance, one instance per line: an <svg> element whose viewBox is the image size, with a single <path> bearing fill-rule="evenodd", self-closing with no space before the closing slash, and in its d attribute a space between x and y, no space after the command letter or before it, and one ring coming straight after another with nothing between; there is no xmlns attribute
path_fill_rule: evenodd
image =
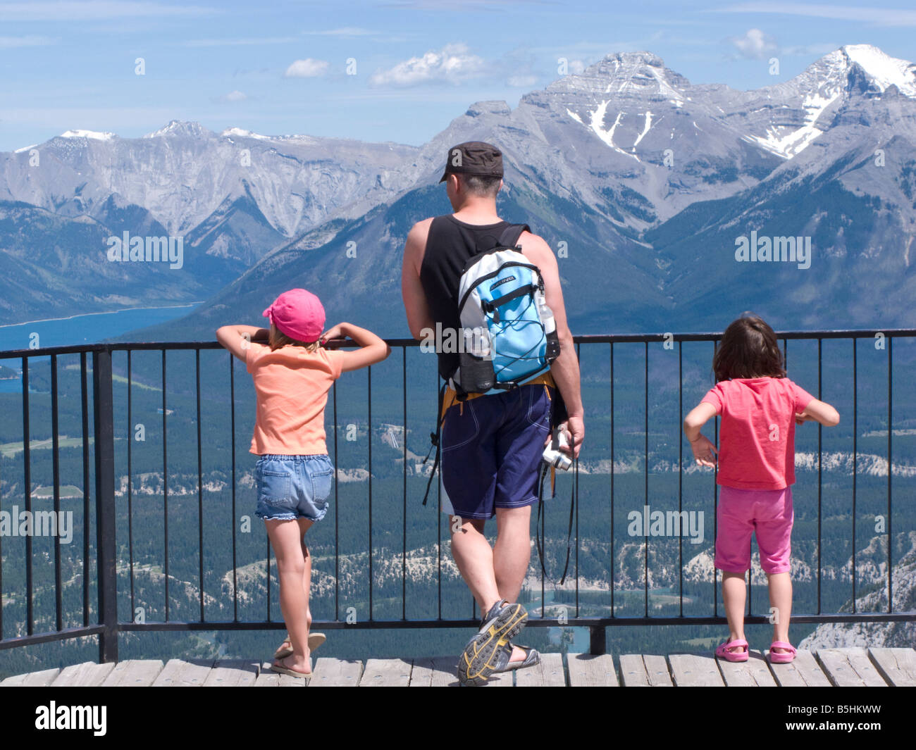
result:
<svg viewBox="0 0 916 750"><path fill-rule="evenodd" d="M715 656L747 661L745 572L750 568L754 533L775 615L769 660L790 662L795 658L789 643L795 425L813 419L829 427L839 423L840 415L786 377L776 334L756 315L745 313L725 329L713 370L716 386L684 419L684 432L697 463L715 466L714 454L718 455L715 484L722 489L716 513L715 567L722 571L730 635L715 649ZM715 415L722 418L718 450L700 432Z"/></svg>

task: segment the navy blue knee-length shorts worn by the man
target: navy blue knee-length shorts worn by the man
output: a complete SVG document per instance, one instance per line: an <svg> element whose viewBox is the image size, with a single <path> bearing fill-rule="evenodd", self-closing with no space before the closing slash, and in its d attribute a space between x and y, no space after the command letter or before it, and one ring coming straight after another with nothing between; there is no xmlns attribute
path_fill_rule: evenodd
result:
<svg viewBox="0 0 916 750"><path fill-rule="evenodd" d="M442 422L442 512L492 518L538 502L538 467L551 431L552 389L519 386L455 403Z"/></svg>

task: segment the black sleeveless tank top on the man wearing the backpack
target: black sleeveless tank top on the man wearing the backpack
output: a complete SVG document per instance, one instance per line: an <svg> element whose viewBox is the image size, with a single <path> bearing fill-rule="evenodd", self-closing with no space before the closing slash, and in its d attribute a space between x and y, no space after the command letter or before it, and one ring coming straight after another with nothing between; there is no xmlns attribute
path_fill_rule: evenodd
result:
<svg viewBox="0 0 916 750"><path fill-rule="evenodd" d="M426 252L420 266L420 284L432 320L442 331L459 331L458 284L464 265L474 255L499 245L499 237L509 222L469 224L450 213L437 216L430 224ZM528 225L524 225L528 229ZM457 340L455 340L457 342ZM458 366L457 353L439 353L439 374L448 379Z"/></svg>

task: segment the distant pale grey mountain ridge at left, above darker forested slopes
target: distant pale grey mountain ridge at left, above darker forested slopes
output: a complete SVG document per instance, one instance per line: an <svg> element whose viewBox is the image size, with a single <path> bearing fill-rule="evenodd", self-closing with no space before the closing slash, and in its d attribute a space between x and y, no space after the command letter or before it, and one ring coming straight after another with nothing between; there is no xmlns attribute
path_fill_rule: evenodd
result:
<svg viewBox="0 0 916 750"><path fill-rule="evenodd" d="M38 166L29 163L33 149ZM41 146L0 155L0 197L64 215L92 215L116 195L150 212L169 233L185 234L226 201L248 196L273 230L290 237L368 190L386 188L391 173L416 150L260 136L240 128L216 134L178 121L142 138L69 130ZM52 166L41 168L41 160Z"/></svg>

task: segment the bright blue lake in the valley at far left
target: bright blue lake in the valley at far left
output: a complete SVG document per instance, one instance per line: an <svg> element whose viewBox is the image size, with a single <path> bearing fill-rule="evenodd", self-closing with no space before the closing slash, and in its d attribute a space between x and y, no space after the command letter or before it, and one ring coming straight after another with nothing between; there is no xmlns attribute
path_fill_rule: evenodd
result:
<svg viewBox="0 0 916 750"><path fill-rule="evenodd" d="M74 315L71 318L0 326L0 352L27 349L35 334L38 334L38 344L41 348L96 343L138 328L175 320L187 315L200 304L193 302L178 307L95 312ZM0 359L0 364L18 370L20 361ZM19 393L20 390L21 383L18 378L0 380L0 393Z"/></svg>

